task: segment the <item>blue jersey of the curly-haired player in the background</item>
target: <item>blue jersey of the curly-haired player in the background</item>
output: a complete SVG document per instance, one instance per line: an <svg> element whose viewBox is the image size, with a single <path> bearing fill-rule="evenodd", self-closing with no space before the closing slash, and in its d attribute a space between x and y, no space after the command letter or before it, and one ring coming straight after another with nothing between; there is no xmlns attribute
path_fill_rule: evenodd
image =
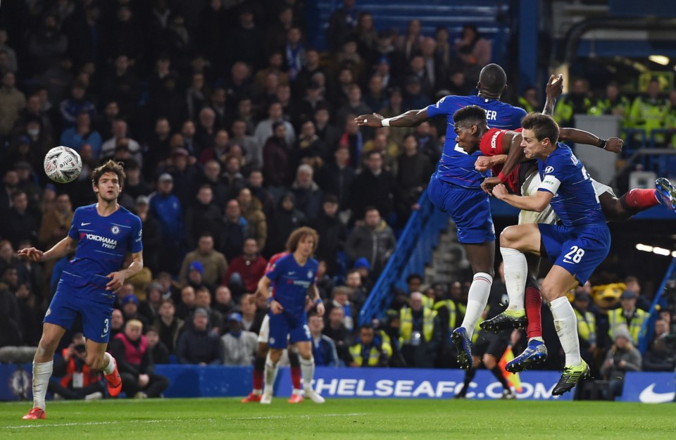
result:
<svg viewBox="0 0 676 440"><path fill-rule="evenodd" d="M298 316L305 313L305 298L308 289L317 281L319 263L308 258L305 265L299 265L293 253L275 261L265 276L273 284L275 301L282 304L284 313Z"/></svg>

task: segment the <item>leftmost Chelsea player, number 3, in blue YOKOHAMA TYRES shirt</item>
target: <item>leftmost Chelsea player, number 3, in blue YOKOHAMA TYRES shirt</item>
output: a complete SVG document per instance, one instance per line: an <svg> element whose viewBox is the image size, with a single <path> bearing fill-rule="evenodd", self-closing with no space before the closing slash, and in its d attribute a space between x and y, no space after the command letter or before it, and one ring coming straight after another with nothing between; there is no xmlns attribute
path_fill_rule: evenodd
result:
<svg viewBox="0 0 676 440"><path fill-rule="evenodd" d="M35 262L56 260L75 251L75 258L56 287L44 315L42 339L33 358L33 408L25 420L45 419L44 397L58 342L80 315L87 338L87 366L103 370L108 392L120 394L122 380L115 359L106 353L111 334L115 294L125 279L143 268L141 220L118 204L125 180L122 164L108 161L92 172L98 202L75 210L68 236L49 251L21 249L18 255ZM127 254L132 263L121 269Z"/></svg>

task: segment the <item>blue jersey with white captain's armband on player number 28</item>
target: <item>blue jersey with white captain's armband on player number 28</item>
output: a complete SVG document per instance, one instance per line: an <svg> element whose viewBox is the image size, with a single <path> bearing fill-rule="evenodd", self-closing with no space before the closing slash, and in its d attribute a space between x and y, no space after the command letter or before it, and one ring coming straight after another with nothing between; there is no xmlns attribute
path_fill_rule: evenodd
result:
<svg viewBox="0 0 676 440"><path fill-rule="evenodd" d="M538 191L554 194L549 204L563 226L606 223L592 178L570 147L558 144L543 161L537 161L542 184Z"/></svg>

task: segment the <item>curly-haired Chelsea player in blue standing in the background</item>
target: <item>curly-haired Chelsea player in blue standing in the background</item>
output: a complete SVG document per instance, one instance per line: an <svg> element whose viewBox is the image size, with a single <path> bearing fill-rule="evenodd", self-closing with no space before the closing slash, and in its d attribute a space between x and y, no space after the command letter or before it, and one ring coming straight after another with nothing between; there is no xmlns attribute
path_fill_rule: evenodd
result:
<svg viewBox="0 0 676 440"><path fill-rule="evenodd" d="M275 261L273 267L258 282L256 294L268 297L270 303L270 336L268 359L265 362L265 388L261 403L273 401L273 385L277 377L277 365L287 342L295 345L301 357L301 375L305 396L315 403L324 403L324 398L312 389L315 361L312 356L310 328L306 313L306 296L310 296L317 315L324 315L324 304L317 289L319 263L312 258L317 249L318 234L309 227L300 227L287 240L289 253Z"/></svg>

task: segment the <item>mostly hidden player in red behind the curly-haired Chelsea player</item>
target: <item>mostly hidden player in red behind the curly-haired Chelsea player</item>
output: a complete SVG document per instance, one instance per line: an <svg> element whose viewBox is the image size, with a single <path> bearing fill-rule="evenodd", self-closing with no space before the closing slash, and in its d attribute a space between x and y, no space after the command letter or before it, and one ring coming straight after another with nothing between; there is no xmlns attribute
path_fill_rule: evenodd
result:
<svg viewBox="0 0 676 440"><path fill-rule="evenodd" d="M268 265L265 267L265 274L272 270L273 266L283 256L289 255L288 251L275 253L270 257ZM265 275L263 275L265 276ZM267 295L265 296L267 298ZM261 330L258 332L258 351L256 351L256 360L253 361L253 389L249 396L242 399L242 403L260 402L263 396L263 377L265 375L265 359L268 358L268 338L270 337L270 316L265 315L261 323ZM301 403L301 365L298 353L293 350L287 352L289 355L289 364L291 365L291 382L293 386L292 395L289 403Z"/></svg>

